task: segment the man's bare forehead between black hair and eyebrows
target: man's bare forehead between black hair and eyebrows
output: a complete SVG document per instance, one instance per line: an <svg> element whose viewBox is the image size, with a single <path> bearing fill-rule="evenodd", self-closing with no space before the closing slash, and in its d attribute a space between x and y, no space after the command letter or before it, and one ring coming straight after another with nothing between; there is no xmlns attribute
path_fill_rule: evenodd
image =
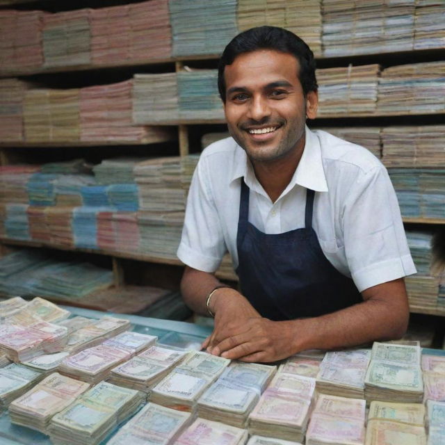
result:
<svg viewBox="0 0 445 445"><path fill-rule="evenodd" d="M232 65L226 65L226 90L233 87L254 88L276 81L300 85L300 65L293 54L272 49L261 49L236 56Z"/></svg>

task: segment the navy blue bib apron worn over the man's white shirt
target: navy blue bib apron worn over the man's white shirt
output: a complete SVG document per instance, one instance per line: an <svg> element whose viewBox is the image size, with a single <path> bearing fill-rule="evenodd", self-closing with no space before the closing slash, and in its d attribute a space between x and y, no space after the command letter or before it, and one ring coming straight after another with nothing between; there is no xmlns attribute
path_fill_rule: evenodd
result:
<svg viewBox="0 0 445 445"><path fill-rule="evenodd" d="M270 320L314 317L363 301L353 280L325 257L312 228L313 190L307 189L305 227L264 234L248 221L250 189L241 179L236 269L241 293Z"/></svg>

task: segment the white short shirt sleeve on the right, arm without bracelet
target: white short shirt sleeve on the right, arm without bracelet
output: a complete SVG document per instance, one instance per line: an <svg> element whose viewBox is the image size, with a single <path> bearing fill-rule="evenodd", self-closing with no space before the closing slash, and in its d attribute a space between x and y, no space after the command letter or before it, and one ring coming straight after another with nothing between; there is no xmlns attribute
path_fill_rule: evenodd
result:
<svg viewBox="0 0 445 445"><path fill-rule="evenodd" d="M416 273L387 170L361 171L343 207L348 267L359 291Z"/></svg>

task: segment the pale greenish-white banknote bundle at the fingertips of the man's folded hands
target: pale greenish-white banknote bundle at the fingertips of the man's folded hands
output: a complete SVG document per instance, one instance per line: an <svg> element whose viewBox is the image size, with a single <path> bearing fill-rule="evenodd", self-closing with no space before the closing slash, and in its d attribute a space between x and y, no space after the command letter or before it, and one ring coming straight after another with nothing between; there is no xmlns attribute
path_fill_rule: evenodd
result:
<svg viewBox="0 0 445 445"><path fill-rule="evenodd" d="M215 381L230 360L193 351L153 389L150 401L195 412L197 399Z"/></svg>

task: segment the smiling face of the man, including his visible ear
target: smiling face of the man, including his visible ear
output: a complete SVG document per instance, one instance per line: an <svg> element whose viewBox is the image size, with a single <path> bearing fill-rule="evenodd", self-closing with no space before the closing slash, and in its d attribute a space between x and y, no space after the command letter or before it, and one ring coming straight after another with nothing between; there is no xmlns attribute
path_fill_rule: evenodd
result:
<svg viewBox="0 0 445 445"><path fill-rule="evenodd" d="M261 49L225 67L225 118L252 162L282 159L305 145L305 122L315 118L316 92L303 95L292 54Z"/></svg>

